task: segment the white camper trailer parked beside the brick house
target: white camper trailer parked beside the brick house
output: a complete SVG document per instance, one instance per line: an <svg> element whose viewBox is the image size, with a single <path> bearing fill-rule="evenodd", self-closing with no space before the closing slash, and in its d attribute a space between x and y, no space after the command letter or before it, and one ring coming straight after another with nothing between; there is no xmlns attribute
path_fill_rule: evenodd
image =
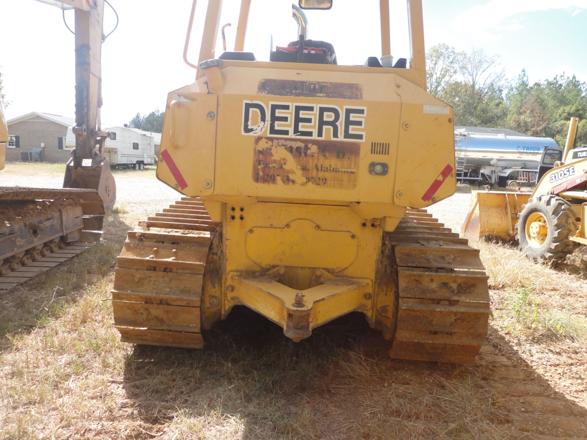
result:
<svg viewBox="0 0 587 440"><path fill-rule="evenodd" d="M106 139L104 144L104 157L109 159L111 167L142 170L144 165L155 163L154 137L149 131L129 127L104 127L102 130L116 133L116 140ZM75 147L72 127L68 128L65 146Z"/></svg>

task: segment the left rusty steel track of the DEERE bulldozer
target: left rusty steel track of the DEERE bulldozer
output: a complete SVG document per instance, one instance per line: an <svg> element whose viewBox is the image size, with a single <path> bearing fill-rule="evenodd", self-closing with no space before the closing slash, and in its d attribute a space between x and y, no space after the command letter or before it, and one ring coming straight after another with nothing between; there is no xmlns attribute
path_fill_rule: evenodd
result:
<svg viewBox="0 0 587 440"><path fill-rule="evenodd" d="M199 197L182 197L129 232L112 290L123 342L203 347L200 299L217 227Z"/></svg>

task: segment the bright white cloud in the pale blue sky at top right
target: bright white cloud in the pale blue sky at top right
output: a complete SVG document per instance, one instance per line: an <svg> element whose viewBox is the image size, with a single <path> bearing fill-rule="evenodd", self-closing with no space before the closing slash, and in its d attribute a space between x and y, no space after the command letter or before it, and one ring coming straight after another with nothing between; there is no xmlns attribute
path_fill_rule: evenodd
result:
<svg viewBox="0 0 587 440"><path fill-rule="evenodd" d="M495 40L503 32L523 29L513 17L519 13L574 8L573 16L587 9L587 0L490 0L485 5L473 6L461 12L452 25L462 32L474 32L481 40Z"/></svg>

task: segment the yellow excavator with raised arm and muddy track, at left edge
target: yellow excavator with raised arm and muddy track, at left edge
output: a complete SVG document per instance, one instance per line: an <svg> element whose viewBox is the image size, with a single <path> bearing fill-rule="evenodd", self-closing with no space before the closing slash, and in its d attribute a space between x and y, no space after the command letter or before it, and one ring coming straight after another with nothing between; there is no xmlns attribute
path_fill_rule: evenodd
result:
<svg viewBox="0 0 587 440"><path fill-rule="evenodd" d="M0 187L0 292L99 242L104 209L116 202L116 183L102 155L116 133L100 128L104 0L38 1L75 9L76 145L62 189ZM0 170L8 134L0 102Z"/></svg>

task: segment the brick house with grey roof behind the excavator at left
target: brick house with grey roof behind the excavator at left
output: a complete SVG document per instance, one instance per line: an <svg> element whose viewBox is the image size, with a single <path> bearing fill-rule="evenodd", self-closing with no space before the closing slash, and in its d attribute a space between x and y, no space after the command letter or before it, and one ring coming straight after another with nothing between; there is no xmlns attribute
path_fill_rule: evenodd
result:
<svg viewBox="0 0 587 440"><path fill-rule="evenodd" d="M50 113L32 111L6 121L9 141L6 145L6 162L21 160L21 151L43 148L45 162L65 163L71 157L71 149L65 147L68 127L75 126L75 119Z"/></svg>

